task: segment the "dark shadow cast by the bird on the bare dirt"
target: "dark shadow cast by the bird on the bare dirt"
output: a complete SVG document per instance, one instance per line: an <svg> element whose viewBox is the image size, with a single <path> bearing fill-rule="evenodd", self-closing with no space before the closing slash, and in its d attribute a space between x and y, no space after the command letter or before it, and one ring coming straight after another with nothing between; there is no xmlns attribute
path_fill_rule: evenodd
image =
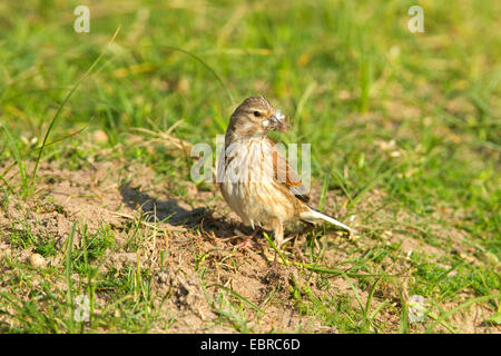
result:
<svg viewBox="0 0 501 356"><path fill-rule="evenodd" d="M240 224L229 222L226 218L214 217L213 211L205 207L185 209L178 200L159 200L126 182L119 188L125 205L136 210L139 209L146 220L164 221L173 226L183 226L187 229L203 228L206 233L214 233L218 238L235 236L235 228L242 228Z"/></svg>

